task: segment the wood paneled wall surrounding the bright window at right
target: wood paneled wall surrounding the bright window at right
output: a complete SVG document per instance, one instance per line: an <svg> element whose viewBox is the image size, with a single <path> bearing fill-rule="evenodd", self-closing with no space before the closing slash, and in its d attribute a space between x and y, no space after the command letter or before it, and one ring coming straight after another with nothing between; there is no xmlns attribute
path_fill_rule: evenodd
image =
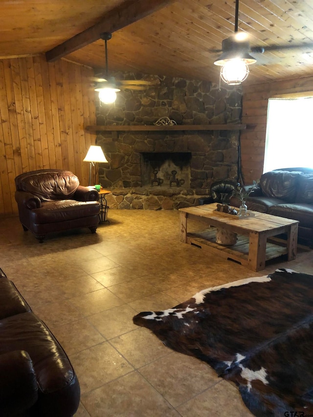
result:
<svg viewBox="0 0 313 417"><path fill-rule="evenodd" d="M263 174L268 98L313 90L313 77L244 87L241 132L241 167L244 183L251 184Z"/></svg>

